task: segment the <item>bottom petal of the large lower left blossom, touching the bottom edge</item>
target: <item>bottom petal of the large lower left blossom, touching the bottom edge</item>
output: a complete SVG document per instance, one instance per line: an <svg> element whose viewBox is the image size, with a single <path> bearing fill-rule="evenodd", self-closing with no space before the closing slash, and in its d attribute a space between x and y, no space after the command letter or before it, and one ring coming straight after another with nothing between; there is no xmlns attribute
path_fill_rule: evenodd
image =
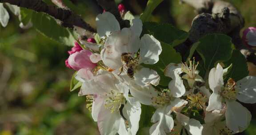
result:
<svg viewBox="0 0 256 135"><path fill-rule="evenodd" d="M100 135L116 135L120 128L120 121L123 119L119 112L111 113L107 109L100 110L98 117L98 129Z"/></svg>

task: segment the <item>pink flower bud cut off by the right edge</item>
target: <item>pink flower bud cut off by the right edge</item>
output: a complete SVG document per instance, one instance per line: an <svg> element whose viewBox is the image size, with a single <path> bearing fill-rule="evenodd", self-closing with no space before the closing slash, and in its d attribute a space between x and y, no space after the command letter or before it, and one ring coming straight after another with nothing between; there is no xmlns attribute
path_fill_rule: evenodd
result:
<svg viewBox="0 0 256 135"><path fill-rule="evenodd" d="M243 42L246 46L256 47L256 27L249 27L243 32Z"/></svg>

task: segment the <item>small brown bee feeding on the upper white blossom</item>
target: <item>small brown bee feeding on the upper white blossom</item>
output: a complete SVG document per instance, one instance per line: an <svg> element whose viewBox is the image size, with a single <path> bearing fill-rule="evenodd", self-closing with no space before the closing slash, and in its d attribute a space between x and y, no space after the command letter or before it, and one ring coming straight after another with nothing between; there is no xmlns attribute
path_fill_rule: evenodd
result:
<svg viewBox="0 0 256 135"><path fill-rule="evenodd" d="M122 67L119 69L119 75L124 71L130 78L133 78L137 59L133 59L131 55L131 53L127 52L121 54Z"/></svg>

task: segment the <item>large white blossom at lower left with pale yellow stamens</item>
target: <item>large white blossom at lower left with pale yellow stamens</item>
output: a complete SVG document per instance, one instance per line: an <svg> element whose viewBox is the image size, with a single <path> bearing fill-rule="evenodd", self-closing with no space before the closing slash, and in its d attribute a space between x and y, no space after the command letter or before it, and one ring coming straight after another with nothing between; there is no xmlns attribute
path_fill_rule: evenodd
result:
<svg viewBox="0 0 256 135"><path fill-rule="evenodd" d="M92 79L83 81L79 95L91 97L92 118L97 121L101 135L136 135L140 102L129 97L128 91L128 86L108 71L99 70Z"/></svg>

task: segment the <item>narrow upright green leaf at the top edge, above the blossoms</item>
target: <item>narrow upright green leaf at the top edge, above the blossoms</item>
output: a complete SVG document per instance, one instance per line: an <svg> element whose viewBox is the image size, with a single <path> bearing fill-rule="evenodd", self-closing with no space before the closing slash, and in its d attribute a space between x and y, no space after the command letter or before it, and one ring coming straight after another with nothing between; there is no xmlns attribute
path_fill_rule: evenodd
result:
<svg viewBox="0 0 256 135"><path fill-rule="evenodd" d="M145 8L145 11L143 14L140 15L140 19L142 22L146 22L150 19L150 16L154 9L164 0L148 0L147 7Z"/></svg>

